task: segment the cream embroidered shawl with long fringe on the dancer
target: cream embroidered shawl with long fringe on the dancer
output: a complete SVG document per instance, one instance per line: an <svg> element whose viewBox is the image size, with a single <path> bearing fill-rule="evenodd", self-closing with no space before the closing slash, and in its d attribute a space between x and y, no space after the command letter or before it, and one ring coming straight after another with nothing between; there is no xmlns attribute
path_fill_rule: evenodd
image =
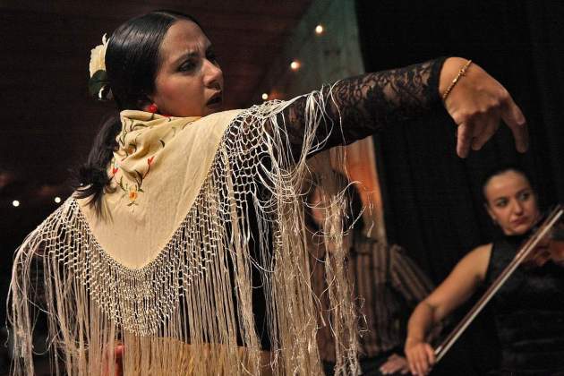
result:
<svg viewBox="0 0 564 376"><path fill-rule="evenodd" d="M326 118L320 93L310 94L295 160L282 115L291 103L201 119L124 111L102 214L71 197L16 253L14 372L33 373L42 311L57 374L114 374L118 343L125 375L320 374L303 182L306 156L325 142L316 130L338 124ZM339 243L344 200L336 197L327 236ZM344 254L326 258L336 371L355 374ZM255 329L252 269L260 270L270 352Z"/></svg>

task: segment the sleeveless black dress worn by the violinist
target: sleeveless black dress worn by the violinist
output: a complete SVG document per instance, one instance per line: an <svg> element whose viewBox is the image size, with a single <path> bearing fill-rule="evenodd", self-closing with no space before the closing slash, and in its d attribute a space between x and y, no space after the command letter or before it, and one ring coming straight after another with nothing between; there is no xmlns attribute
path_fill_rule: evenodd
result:
<svg viewBox="0 0 564 376"><path fill-rule="evenodd" d="M522 236L493 244L486 281L505 269ZM552 261L543 267L519 267L493 297L500 340L498 373L552 375L564 372L564 268Z"/></svg>

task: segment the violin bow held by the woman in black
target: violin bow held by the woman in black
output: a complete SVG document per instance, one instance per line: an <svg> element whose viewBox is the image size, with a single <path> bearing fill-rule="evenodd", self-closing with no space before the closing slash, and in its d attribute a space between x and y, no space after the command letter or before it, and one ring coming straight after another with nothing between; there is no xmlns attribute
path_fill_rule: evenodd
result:
<svg viewBox="0 0 564 376"><path fill-rule="evenodd" d="M464 319L462 319L458 323L457 327L450 332L449 336L445 338L444 341L442 341L440 346L437 346L437 348L435 349L435 363L439 363L440 359L442 359L442 357L447 354L450 347L454 345L457 339L462 335L462 333L464 333L466 328L468 328L468 326L472 323L478 313L483 310L483 307L488 302L490 302L493 295L495 295L495 293L498 292L501 286L505 284L508 278L511 277L511 275L521 264L521 262L525 261L526 257L531 252L533 252L534 247L536 247L541 239L543 239L543 237L548 234L548 232L551 230L551 227L558 222L563 213L564 208L562 207L562 205L557 205L556 208L551 211L551 214L544 220L543 225L540 226L534 232L534 234L527 239L525 244L519 247L519 251L513 258L513 260L509 262L508 266L503 269L503 271L501 271L500 276L498 276L498 278L493 281L491 286L488 287L480 300L474 304L474 307L472 307L472 309L468 313L466 313Z"/></svg>

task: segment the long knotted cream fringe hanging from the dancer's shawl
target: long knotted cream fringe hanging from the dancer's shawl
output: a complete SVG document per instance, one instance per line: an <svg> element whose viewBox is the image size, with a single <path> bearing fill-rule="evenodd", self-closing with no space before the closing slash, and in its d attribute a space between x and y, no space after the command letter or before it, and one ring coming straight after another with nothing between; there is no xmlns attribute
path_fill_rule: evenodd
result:
<svg viewBox="0 0 564 376"><path fill-rule="evenodd" d="M334 106L325 102L330 98L319 91L307 96L297 160L282 113L292 101L266 102L238 115L183 223L141 269L113 260L77 201L65 201L16 252L8 312L12 372L34 374L33 331L45 314L55 374L114 374L118 344L124 346L124 375L321 374L320 303L310 283L303 207L304 192L312 189L306 157L326 142L316 131L329 126L339 132L325 112ZM325 192L330 175L317 179ZM335 192L332 202L326 237L337 246L324 262L331 319L321 322L335 336L336 374L356 374L355 306L338 246L346 200ZM251 231L249 209L258 233ZM255 329L252 268L261 270L269 353L261 351Z"/></svg>

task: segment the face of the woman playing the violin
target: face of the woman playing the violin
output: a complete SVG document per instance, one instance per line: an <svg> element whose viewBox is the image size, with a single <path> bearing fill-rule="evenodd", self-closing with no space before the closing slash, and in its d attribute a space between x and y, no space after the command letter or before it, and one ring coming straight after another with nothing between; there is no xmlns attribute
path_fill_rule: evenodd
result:
<svg viewBox="0 0 564 376"><path fill-rule="evenodd" d="M540 215L531 184L516 171L491 177L484 193L486 209L505 235L525 234Z"/></svg>

